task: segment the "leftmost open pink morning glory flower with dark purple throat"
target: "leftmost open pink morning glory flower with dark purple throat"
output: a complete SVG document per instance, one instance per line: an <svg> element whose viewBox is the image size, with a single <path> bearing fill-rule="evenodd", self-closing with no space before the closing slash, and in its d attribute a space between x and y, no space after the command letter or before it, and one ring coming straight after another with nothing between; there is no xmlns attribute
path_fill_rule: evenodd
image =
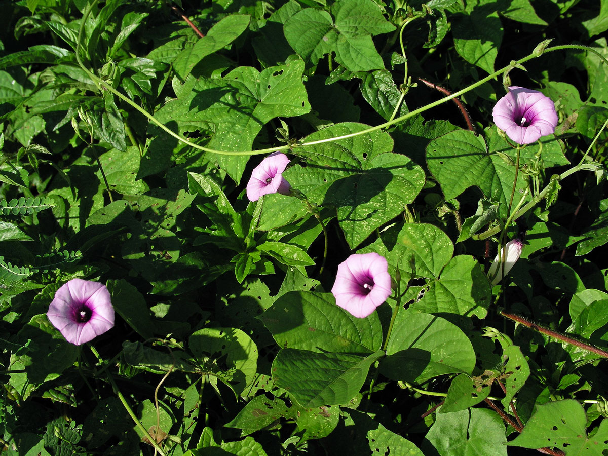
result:
<svg viewBox="0 0 608 456"><path fill-rule="evenodd" d="M67 342L81 345L114 326L108 288L99 282L72 278L61 286L46 316Z"/></svg>

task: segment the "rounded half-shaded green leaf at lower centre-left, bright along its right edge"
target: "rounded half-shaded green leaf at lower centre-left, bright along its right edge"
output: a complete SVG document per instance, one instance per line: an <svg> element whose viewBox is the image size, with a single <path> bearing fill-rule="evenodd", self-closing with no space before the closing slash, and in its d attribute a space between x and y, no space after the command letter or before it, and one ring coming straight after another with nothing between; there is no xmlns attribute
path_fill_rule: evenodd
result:
<svg viewBox="0 0 608 456"><path fill-rule="evenodd" d="M240 395L257 371L258 348L235 328L204 328L188 339L201 370L223 381Z"/></svg>

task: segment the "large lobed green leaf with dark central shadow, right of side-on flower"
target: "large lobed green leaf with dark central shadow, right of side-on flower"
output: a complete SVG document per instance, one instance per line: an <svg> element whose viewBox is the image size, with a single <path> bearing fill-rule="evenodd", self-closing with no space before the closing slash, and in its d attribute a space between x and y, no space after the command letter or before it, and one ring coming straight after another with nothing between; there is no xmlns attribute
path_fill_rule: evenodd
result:
<svg viewBox="0 0 608 456"><path fill-rule="evenodd" d="M310 134L305 142L330 139L367 128L338 123ZM338 222L351 248L399 215L424 185L424 172L408 157L392 153L389 134L379 131L297 149L306 168L283 176L315 204L336 206Z"/></svg>

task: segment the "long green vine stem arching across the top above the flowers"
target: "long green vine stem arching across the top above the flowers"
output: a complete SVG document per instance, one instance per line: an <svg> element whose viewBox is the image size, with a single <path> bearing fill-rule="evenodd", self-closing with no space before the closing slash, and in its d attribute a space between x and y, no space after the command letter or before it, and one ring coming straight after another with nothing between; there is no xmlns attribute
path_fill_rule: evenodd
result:
<svg viewBox="0 0 608 456"><path fill-rule="evenodd" d="M92 81L94 81L94 83L97 86L100 86L100 85L103 86L109 92L111 92L112 94L116 95L121 100L123 100L123 102L127 103L130 106L133 106L134 109L136 109L141 114L143 114L143 116L147 117L151 122L156 124L163 131L165 131L165 133L169 134L170 136L173 136L175 139L183 142L184 144L186 144L190 147L193 147L198 150L202 150L204 152L220 154L220 155L250 156L250 155L272 153L272 152L277 152L277 151L288 151L288 150L291 150L292 147L305 147L305 146L311 146L311 145L316 145L316 144L322 144L322 143L326 143L326 142L334 142L334 141L339 141L341 139L347 139L347 138L354 137L354 136L360 136L362 134L372 133L373 131L376 131L376 130L382 130L383 128L387 128L389 126L395 125L396 123L402 122L403 120L416 116L417 114L420 114L421 112L427 111L428 109L434 108L435 106L439 106L445 102L448 102L449 100L460 97L460 95L466 94L467 92L471 91L472 89L475 89L478 86L485 84L486 82L496 78L497 76L503 74L504 72L510 71L511 69L513 69L514 66L525 63L528 60L532 60L533 58L540 57L544 52L553 52L555 50L561 50L561 49L583 49L583 50L587 50L589 52L593 52L594 54L598 55L598 57L604 63L606 63L608 65L608 60L606 60L606 58L604 58L603 55L599 54L599 52L596 51L595 49L593 49L592 47L579 46L578 44L565 44L562 46L548 47L547 49L543 49L542 51L539 51L539 52L537 52L535 49L531 54L527 55L526 57L523 57L523 58L520 58L520 60L511 62L509 65L499 69L499 71L495 71L492 74L489 74L485 78L478 80L477 82L471 84L470 86L468 86L464 89L454 92L453 94L446 95L446 97L440 98L439 100L429 103L428 105L424 105L421 108L407 112L403 116L397 117L396 119L392 119L392 120L389 120L388 122L381 123L380 125L366 128L365 130L361 130L361 131L357 131L357 132L349 133L349 134L344 134L342 136L336 136L336 137L331 137L331 138L326 138L326 139L319 139L316 141L309 141L309 142L305 142L305 143L295 144L293 146L285 145L285 146L270 147L270 148L265 148L265 149L258 149L258 150L253 150L253 151L221 151L221 150L210 149L210 148L195 144L195 143L191 142L190 140L186 139L185 137L182 137L179 134L175 133L174 131L170 130L167 126L165 126L163 123L161 123L159 120L157 120L149 112L147 112L141 106L137 105L137 103L133 102L133 100L131 100L128 97L125 97L125 95L121 94L119 91L114 89L106 81L103 81L102 79L98 78L83 64L83 62L80 58L83 31L85 29L86 20L88 19L89 15L91 15L92 9L97 4L97 2L98 2L98 0L94 0L93 2L91 2L91 4L89 4L89 6L87 7L87 9L83 15L81 22L80 22L80 27L78 29L77 45L76 45L76 60L78 62L78 66L81 67L81 69L89 76L89 78L91 78Z"/></svg>

